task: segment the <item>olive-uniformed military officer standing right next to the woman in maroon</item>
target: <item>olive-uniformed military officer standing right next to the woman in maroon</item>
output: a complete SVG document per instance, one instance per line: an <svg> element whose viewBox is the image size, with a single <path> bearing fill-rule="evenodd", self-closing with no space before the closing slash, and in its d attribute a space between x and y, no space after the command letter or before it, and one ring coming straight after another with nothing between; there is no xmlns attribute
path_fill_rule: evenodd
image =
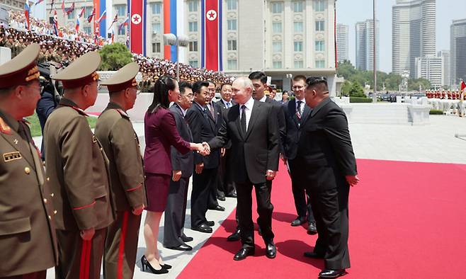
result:
<svg viewBox="0 0 466 279"><path fill-rule="evenodd" d="M137 72L139 66L132 62L101 83L108 88L110 103L97 120L96 137L110 161L117 210L106 239L103 270L108 279L132 278L141 213L147 205L139 139L126 113L135 105Z"/></svg>

